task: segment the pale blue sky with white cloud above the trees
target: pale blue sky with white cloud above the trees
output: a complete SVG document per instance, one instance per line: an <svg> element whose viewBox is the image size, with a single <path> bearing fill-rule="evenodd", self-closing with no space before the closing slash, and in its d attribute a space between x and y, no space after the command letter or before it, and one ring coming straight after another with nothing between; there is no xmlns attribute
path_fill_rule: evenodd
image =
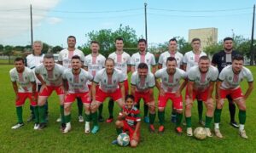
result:
<svg viewBox="0 0 256 153"><path fill-rule="evenodd" d="M253 0L0 0L0 44L31 44L30 4L33 39L52 46L66 48L70 35L82 46L88 32L115 31L120 25L145 37L144 3L148 43L163 43L172 37L188 40L189 29L207 27L218 28L218 41L233 34L251 37Z"/></svg>

